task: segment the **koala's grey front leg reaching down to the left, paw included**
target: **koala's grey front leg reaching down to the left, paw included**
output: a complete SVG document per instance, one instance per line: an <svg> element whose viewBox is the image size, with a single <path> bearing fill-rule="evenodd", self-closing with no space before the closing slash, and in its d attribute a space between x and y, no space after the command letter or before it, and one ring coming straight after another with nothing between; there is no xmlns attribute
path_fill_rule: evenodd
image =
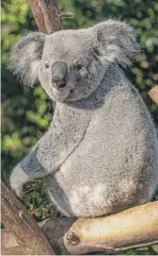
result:
<svg viewBox="0 0 158 256"><path fill-rule="evenodd" d="M24 182L54 173L65 162L83 139L87 121L77 128L74 124L63 125L45 133L30 154L13 169L10 185L18 196L21 196Z"/></svg>

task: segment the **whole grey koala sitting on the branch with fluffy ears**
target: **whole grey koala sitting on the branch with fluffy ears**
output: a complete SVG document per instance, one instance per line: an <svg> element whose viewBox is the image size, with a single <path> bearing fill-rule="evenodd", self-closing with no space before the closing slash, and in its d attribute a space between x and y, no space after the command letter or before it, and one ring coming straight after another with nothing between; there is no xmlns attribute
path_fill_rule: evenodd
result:
<svg viewBox="0 0 158 256"><path fill-rule="evenodd" d="M123 69L139 52L134 28L117 20L16 43L8 68L55 101L48 131L15 166L10 185L44 179L65 216L118 213L150 201L158 183L158 140L150 112Z"/></svg>

